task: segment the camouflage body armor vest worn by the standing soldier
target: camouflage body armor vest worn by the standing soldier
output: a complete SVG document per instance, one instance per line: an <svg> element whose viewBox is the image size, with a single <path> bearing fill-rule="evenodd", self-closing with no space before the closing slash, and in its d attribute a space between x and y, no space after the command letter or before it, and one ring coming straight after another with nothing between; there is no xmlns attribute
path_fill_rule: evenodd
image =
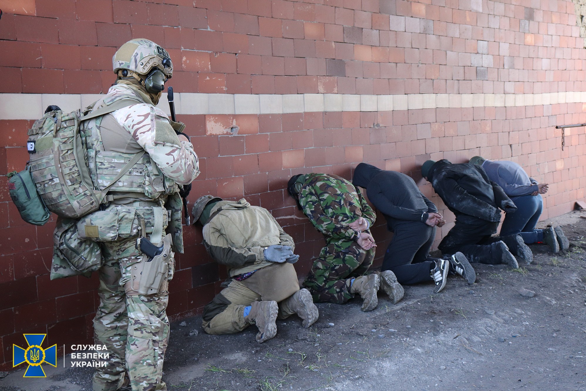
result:
<svg viewBox="0 0 586 391"><path fill-rule="evenodd" d="M93 110L97 110L105 105L115 101L130 98L137 100L137 103L145 103L138 96L116 91L114 94L108 94L102 100L94 104ZM87 159L90 176L96 189L103 190L113 179L120 173L121 169L135 157L136 151L143 151L138 145L130 132L122 125L118 124L114 118L108 120L111 114L86 121L81 125L80 132L83 134L87 145ZM107 121L108 127L114 128L115 132L121 135L128 135L131 140L128 145L119 145L117 151L105 151L101 125ZM135 145L132 145L134 142ZM125 143L126 144L126 143ZM134 147L134 148L133 148ZM128 152L122 152L128 151ZM158 169L155 162L147 153L130 168L113 186L109 193L114 195L114 199L122 197L142 198L142 199L159 199L161 196L170 195L179 191L179 186L171 178L167 178Z"/></svg>

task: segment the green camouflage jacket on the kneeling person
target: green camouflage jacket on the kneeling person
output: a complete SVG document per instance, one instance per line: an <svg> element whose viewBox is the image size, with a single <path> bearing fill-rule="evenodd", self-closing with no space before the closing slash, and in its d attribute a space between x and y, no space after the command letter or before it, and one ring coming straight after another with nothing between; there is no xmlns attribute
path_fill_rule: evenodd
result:
<svg viewBox="0 0 586 391"><path fill-rule="evenodd" d="M362 193L338 175L314 172L305 175L299 205L336 251L347 249L355 241L356 231L348 227L350 223L362 216L371 227L376 220Z"/></svg>

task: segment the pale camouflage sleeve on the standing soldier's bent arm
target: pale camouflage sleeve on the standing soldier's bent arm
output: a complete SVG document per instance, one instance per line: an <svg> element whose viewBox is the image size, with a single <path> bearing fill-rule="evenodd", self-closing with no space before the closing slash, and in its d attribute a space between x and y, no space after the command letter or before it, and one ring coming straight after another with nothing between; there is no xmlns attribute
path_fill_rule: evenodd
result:
<svg viewBox="0 0 586 391"><path fill-rule="evenodd" d="M114 111L114 118L149 154L163 175L187 185L199 175L199 162L188 141L179 137L167 115L149 104L133 104Z"/></svg>

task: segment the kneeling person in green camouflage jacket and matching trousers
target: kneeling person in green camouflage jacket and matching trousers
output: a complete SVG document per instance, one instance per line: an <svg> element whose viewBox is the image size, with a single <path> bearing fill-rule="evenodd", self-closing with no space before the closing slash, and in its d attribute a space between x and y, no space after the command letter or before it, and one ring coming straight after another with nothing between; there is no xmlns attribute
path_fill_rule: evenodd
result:
<svg viewBox="0 0 586 391"><path fill-rule="evenodd" d="M370 234L376 215L352 183L338 175L312 173L293 176L287 190L326 239L303 283L315 302L343 304L360 294L362 311L370 311L378 304L379 287L396 295L400 285L393 272L366 275L376 247Z"/></svg>

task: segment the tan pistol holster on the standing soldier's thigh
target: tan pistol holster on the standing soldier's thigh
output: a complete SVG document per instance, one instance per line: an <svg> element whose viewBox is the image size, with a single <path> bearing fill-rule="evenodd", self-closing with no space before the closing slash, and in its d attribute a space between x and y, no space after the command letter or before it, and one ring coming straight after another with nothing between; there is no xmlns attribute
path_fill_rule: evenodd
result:
<svg viewBox="0 0 586 391"><path fill-rule="evenodd" d="M167 234L161 243L163 251L151 261L145 255L141 261L132 265L131 278L124 288L127 295L152 295L167 291L169 281L175 270L175 253L171 251L171 234Z"/></svg>

